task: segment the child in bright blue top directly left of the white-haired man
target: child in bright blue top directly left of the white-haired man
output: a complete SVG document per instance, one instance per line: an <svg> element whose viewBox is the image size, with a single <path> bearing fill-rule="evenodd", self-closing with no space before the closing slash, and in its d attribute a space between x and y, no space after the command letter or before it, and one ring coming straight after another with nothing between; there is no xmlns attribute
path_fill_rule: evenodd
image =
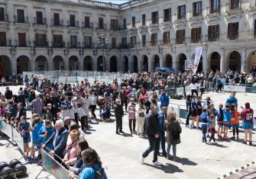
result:
<svg viewBox="0 0 256 179"><path fill-rule="evenodd" d="M50 120L45 120L45 126L42 126L39 131L39 136L41 137L41 142L44 144L50 138L50 136L55 133L55 129L52 126ZM44 148L46 152L53 150L53 142L47 142L46 147Z"/></svg>

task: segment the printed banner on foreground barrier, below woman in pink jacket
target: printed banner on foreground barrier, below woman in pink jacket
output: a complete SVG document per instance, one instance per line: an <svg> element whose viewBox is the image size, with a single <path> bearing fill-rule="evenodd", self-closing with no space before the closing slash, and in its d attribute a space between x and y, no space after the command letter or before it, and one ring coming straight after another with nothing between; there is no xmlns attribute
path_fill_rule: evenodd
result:
<svg viewBox="0 0 256 179"><path fill-rule="evenodd" d="M67 171L66 168L60 165L44 150L42 150L42 165L44 169L57 179L70 179L69 171Z"/></svg>

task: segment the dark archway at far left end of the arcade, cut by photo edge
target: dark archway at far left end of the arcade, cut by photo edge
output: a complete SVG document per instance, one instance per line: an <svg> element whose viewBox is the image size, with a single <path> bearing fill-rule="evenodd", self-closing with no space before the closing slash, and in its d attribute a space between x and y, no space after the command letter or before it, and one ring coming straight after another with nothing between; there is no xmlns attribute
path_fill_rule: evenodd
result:
<svg viewBox="0 0 256 179"><path fill-rule="evenodd" d="M11 76L11 60L8 56L0 56L0 78L7 80Z"/></svg>

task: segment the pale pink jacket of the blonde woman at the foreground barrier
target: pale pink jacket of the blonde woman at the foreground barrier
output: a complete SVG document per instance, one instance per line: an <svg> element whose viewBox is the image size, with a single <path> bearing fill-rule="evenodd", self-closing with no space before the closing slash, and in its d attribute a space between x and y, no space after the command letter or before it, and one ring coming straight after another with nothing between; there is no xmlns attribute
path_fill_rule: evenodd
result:
<svg viewBox="0 0 256 179"><path fill-rule="evenodd" d="M66 155L64 156L64 159L69 161L70 166L73 166L76 164L76 157L77 157L76 150L77 150L78 141L79 140L76 140L76 142L73 142L73 144L71 141L66 143Z"/></svg>

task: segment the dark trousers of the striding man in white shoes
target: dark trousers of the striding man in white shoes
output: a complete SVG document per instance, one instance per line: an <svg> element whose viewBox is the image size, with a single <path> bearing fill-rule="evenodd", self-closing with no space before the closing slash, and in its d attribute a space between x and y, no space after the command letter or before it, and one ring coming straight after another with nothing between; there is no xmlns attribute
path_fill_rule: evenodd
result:
<svg viewBox="0 0 256 179"><path fill-rule="evenodd" d="M154 136L148 136L149 148L142 154L142 157L146 158L152 151L154 151L153 162L157 161L157 154L159 151L159 138L155 138Z"/></svg>

